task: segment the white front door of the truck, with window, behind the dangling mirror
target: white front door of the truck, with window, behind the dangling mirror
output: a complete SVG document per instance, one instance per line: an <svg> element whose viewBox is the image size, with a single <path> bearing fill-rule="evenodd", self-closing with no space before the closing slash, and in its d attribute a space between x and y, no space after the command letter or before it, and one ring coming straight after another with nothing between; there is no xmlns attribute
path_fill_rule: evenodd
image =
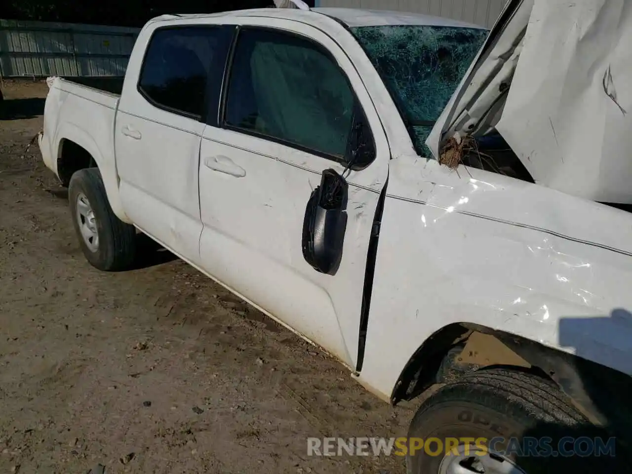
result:
<svg viewBox="0 0 632 474"><path fill-rule="evenodd" d="M354 366L370 235L388 173L386 136L334 40L293 21L248 23L234 45L219 123L202 140L204 269ZM369 152L348 166L360 128ZM303 256L303 223L327 169L344 175L347 198L341 258L324 273Z"/></svg>

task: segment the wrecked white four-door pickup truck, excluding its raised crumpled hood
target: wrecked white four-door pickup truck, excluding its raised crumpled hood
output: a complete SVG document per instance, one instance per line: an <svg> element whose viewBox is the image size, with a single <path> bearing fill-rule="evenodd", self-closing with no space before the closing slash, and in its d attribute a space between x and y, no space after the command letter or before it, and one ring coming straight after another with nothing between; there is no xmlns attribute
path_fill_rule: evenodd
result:
<svg viewBox="0 0 632 474"><path fill-rule="evenodd" d="M167 15L120 94L49 78L39 146L87 260L126 269L139 229L384 401L433 387L409 473L608 471L632 418L632 216L543 183L490 114L456 119L494 85L471 80L489 61L515 64L521 4L492 32L351 9Z"/></svg>

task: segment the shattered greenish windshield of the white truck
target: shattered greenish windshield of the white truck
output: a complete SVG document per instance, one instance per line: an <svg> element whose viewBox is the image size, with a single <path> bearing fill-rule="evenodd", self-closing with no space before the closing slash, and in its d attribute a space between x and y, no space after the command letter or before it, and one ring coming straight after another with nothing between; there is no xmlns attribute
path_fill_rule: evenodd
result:
<svg viewBox="0 0 632 474"><path fill-rule="evenodd" d="M429 25L351 28L404 118L418 154L487 30Z"/></svg>

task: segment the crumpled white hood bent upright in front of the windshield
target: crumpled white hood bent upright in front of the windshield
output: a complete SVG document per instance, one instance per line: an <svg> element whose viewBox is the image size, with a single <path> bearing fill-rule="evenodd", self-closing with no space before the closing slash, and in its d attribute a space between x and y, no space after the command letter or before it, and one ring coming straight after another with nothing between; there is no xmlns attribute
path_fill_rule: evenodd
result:
<svg viewBox="0 0 632 474"><path fill-rule="evenodd" d="M632 203L631 44L630 1L510 0L426 143L495 128L538 184Z"/></svg>

